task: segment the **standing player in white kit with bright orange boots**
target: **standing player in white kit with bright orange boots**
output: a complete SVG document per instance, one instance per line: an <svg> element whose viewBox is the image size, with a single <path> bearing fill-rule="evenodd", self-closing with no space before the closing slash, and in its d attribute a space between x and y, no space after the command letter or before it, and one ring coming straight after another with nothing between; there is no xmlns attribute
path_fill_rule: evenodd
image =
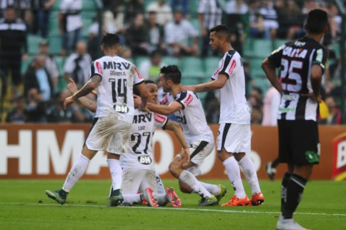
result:
<svg viewBox="0 0 346 230"><path fill-rule="evenodd" d="M220 128L218 155L225 166L235 196L221 206L260 205L264 202L257 173L246 152L251 150L250 110L245 98L245 76L239 53L230 44L231 33L225 25L210 29L210 46L223 54L212 79L204 84L183 89L204 92L220 89ZM239 165L252 190L249 200L240 177Z"/></svg>

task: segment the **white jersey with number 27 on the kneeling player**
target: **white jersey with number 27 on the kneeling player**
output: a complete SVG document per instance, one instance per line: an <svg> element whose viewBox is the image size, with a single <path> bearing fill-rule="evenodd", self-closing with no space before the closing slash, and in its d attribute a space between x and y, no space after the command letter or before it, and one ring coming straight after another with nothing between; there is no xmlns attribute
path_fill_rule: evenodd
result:
<svg viewBox="0 0 346 230"><path fill-rule="evenodd" d="M121 155L124 169L154 169L153 136L156 127L164 128L167 117L135 109L126 154Z"/></svg>

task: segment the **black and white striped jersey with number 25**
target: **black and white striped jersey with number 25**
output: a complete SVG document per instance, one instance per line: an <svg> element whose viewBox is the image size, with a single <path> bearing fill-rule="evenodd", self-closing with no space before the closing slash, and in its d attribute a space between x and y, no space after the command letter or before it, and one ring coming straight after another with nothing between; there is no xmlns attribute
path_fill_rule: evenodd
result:
<svg viewBox="0 0 346 230"><path fill-rule="evenodd" d="M283 95L278 111L279 120L313 120L318 103L301 94L313 92L311 68L317 64L326 68L328 51L314 39L302 37L274 50L268 57L275 67L281 67Z"/></svg>

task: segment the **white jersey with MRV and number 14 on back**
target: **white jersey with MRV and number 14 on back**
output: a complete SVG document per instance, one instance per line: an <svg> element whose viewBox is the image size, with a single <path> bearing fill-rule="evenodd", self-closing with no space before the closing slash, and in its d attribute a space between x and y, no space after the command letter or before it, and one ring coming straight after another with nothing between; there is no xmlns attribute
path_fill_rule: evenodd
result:
<svg viewBox="0 0 346 230"><path fill-rule="evenodd" d="M114 117L132 123L133 85L143 82L137 67L125 59L104 56L91 65L91 75L102 77L97 87L95 117Z"/></svg>

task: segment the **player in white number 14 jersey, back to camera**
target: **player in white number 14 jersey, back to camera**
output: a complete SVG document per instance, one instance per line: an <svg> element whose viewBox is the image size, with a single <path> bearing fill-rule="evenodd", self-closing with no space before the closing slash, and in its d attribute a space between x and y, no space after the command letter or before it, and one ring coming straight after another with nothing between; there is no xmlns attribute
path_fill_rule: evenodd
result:
<svg viewBox="0 0 346 230"><path fill-rule="evenodd" d="M127 145L129 129L133 121L133 85L136 85L141 93L140 109L142 110L147 110L148 93L137 67L117 56L120 45L116 34L108 33L103 37L101 50L105 56L92 63L89 81L78 92L67 97L64 102L64 107L67 107L77 98L97 88L96 114L81 155L70 169L63 188L54 192L46 190L47 196L60 204L65 203L67 194L84 174L90 160L101 150L110 151L107 162L114 188L110 196L110 204L116 206L123 202L122 169L119 158L125 153L124 147Z"/></svg>

